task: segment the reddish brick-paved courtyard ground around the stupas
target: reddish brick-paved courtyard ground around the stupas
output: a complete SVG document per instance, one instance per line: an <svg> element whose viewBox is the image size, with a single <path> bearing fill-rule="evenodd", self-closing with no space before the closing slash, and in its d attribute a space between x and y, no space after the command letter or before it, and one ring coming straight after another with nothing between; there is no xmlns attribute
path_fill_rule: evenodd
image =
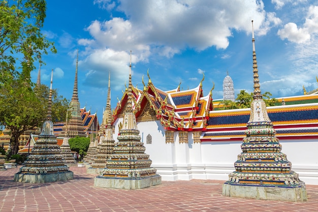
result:
<svg viewBox="0 0 318 212"><path fill-rule="evenodd" d="M141 190L95 188L93 174L71 167L74 179L45 184L16 183L18 168L0 171L0 211L318 211L318 186L307 185L307 202L222 196L219 180L163 181Z"/></svg>

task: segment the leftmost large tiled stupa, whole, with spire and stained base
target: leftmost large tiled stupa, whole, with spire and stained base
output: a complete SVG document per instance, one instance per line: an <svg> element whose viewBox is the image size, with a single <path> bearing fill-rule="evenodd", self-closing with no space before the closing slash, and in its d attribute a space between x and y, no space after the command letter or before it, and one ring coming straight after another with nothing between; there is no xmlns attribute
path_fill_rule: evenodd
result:
<svg viewBox="0 0 318 212"><path fill-rule="evenodd" d="M61 150L53 133L52 123L52 81L49 94L48 112L39 140L34 144L30 155L24 161L24 166L14 175L14 181L23 183L46 183L52 181L73 179L73 172L65 165Z"/></svg>

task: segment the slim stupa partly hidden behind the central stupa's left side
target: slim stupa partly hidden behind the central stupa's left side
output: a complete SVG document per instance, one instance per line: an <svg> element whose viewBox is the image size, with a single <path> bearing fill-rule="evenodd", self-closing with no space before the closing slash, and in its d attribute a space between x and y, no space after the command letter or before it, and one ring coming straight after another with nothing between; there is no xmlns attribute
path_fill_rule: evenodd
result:
<svg viewBox="0 0 318 212"><path fill-rule="evenodd" d="M109 155L113 153L114 149L115 140L113 138L113 130L111 124L110 75L108 78L107 105L105 110L107 110L109 114L107 118L107 124L104 125L104 127L106 128L106 130L104 130L105 135L102 137L102 143L99 145L96 156L93 159L93 163L91 163L91 167L87 168L87 173L99 173L100 169L105 168L106 160L108 159Z"/></svg>

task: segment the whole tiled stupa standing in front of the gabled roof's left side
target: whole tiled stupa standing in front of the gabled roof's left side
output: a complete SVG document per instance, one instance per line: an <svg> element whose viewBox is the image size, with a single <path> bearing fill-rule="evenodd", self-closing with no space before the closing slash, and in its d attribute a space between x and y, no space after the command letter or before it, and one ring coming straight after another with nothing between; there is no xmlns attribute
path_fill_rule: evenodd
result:
<svg viewBox="0 0 318 212"><path fill-rule="evenodd" d="M123 113L114 153L109 156L106 168L94 179L94 186L117 189L142 189L161 184L161 176L151 165L149 155L140 141L136 117L132 109L132 74L130 63L128 101Z"/></svg>

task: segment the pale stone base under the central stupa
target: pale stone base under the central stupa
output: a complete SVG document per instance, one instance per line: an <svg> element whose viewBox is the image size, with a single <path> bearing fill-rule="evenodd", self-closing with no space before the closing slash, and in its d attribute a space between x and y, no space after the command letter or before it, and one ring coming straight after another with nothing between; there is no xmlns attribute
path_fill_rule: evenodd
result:
<svg viewBox="0 0 318 212"><path fill-rule="evenodd" d="M119 177L103 177L97 176L94 179L95 187L114 188L114 189L143 189L150 186L161 184L161 176L154 175L150 177L140 178L119 178Z"/></svg>

